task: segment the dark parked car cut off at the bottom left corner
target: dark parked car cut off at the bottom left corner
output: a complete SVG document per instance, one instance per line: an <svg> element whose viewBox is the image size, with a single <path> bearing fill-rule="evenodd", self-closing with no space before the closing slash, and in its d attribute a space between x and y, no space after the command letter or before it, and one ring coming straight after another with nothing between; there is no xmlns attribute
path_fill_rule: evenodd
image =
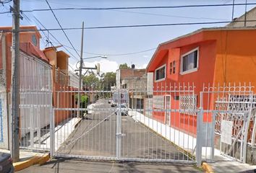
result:
<svg viewBox="0 0 256 173"><path fill-rule="evenodd" d="M0 152L0 172L14 172L11 154Z"/></svg>

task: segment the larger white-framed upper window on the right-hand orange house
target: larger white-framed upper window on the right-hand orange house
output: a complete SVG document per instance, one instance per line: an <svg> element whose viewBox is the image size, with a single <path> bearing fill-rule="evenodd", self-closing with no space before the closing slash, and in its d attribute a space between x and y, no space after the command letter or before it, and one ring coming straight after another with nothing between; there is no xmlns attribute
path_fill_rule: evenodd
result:
<svg viewBox="0 0 256 173"><path fill-rule="evenodd" d="M182 56L182 73L196 71L198 68L198 48Z"/></svg>

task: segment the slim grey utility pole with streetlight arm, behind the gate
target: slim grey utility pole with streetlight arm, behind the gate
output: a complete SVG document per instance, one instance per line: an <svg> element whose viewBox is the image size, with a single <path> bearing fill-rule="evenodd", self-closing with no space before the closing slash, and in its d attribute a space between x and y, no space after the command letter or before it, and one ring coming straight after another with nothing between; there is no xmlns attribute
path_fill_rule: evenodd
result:
<svg viewBox="0 0 256 173"><path fill-rule="evenodd" d="M81 53L80 53L80 67L79 67L79 91L82 91L82 51L83 51L83 45L84 45L84 22L82 22L82 40L81 40ZM81 102L81 93L78 92L78 98L77 98L77 117L80 117L80 102Z"/></svg>

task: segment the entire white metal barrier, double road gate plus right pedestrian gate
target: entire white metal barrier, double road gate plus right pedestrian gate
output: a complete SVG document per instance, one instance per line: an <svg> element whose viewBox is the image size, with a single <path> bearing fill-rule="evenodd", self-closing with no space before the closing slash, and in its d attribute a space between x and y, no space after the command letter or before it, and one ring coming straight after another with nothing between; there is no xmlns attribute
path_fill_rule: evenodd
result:
<svg viewBox="0 0 256 173"><path fill-rule="evenodd" d="M249 131L255 129L252 86L201 89L193 84L157 84L151 94L142 87L62 89L54 94L51 152L83 159L201 164L212 161L217 148L244 162L248 139L255 141L255 132Z"/></svg>

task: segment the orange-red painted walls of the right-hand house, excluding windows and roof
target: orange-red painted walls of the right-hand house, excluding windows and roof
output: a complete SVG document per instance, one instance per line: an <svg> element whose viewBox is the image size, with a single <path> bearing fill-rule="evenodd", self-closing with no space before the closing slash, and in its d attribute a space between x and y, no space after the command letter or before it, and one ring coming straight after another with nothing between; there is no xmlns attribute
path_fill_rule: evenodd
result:
<svg viewBox="0 0 256 173"><path fill-rule="evenodd" d="M166 95L170 84L195 84L195 94L197 96L197 107L200 107L200 92L203 84L213 86L213 84L229 84L229 82L251 82L256 86L256 49L255 49L256 30L210 30L203 31L200 34L190 35L182 39L189 43L190 40L199 40L197 43L186 45L181 40L174 43L163 45L163 48L156 53L155 60L150 68L153 69L166 64L166 79L154 82L154 95ZM201 39L199 39L200 37ZM182 46L179 47L181 43ZM177 48L172 48L176 45ZM199 65L198 70L190 74L180 74L181 56L194 48L199 48ZM176 74L169 74L169 63L176 60ZM158 63L155 63L158 62ZM154 78L155 78L155 71ZM176 85L177 86L177 85ZM164 99L165 97L163 97ZM210 95L210 102L204 99L204 109L214 109L215 100ZM179 109L179 99L171 97L171 108ZM164 103L165 104L165 103ZM210 105L210 107L208 107ZM210 114L204 115L204 121L211 121ZM153 117L161 123L166 123L165 112L153 112ZM171 125L181 130L187 130L196 133L196 116L182 113L171 113Z"/></svg>

